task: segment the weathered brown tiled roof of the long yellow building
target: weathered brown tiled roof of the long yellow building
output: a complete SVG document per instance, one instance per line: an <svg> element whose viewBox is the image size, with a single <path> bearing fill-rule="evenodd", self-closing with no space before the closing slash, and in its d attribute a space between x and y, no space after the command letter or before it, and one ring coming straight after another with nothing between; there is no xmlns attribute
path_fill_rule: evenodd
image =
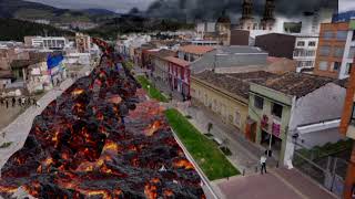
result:
<svg viewBox="0 0 355 199"><path fill-rule="evenodd" d="M276 74L265 71L236 74L219 74L212 71L204 71L195 74L193 77L223 88L232 94L248 98L250 82L262 83L276 76Z"/></svg>

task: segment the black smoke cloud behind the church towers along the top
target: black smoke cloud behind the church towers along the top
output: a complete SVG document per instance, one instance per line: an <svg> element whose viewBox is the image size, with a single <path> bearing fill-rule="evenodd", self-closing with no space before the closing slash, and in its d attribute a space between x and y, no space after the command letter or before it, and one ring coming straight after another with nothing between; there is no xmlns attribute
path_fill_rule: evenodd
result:
<svg viewBox="0 0 355 199"><path fill-rule="evenodd" d="M213 20L223 11L230 15L242 13L243 0L156 0L146 14L178 20ZM253 0L253 14L262 15L265 0ZM275 0L275 11L283 17L300 17L320 8L338 8L338 0Z"/></svg>

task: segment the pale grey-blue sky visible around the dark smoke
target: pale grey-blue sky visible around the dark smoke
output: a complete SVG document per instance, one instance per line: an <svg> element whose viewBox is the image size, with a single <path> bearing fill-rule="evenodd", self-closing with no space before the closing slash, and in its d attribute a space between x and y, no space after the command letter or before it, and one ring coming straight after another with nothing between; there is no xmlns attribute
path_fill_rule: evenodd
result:
<svg viewBox="0 0 355 199"><path fill-rule="evenodd" d="M145 10L154 0L28 0L42 2L58 8L88 9L103 8L119 13L128 12L133 7ZM219 1L219 0L215 0ZM334 1L334 0L329 0ZM355 10L355 0L339 0L339 11Z"/></svg>

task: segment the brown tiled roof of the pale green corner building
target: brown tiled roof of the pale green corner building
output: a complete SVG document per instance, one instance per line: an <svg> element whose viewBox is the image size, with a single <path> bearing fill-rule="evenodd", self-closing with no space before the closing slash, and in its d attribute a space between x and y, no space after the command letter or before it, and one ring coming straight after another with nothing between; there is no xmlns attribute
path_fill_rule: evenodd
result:
<svg viewBox="0 0 355 199"><path fill-rule="evenodd" d="M331 82L336 83L336 80L306 73L288 72L257 84L287 95L302 97Z"/></svg>

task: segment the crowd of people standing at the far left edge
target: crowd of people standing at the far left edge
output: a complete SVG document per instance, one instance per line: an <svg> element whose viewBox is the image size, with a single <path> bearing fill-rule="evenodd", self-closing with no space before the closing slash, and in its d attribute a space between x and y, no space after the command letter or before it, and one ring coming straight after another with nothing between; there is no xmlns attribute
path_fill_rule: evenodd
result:
<svg viewBox="0 0 355 199"><path fill-rule="evenodd" d="M30 96L22 96L22 97L0 97L0 105L4 106L6 108L11 107L29 107L31 105L34 105L36 107L39 107L39 103L37 102L37 98L30 97Z"/></svg>

